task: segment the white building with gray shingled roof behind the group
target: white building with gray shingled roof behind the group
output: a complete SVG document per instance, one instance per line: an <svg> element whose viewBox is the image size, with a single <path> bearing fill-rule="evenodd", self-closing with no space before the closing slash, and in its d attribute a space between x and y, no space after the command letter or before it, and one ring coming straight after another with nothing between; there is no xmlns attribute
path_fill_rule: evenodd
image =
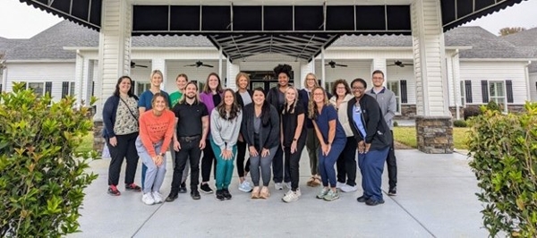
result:
<svg viewBox="0 0 537 238"><path fill-rule="evenodd" d="M531 64L537 60L535 35L537 29L508 37L497 37L479 27L447 31L448 91L444 95L452 114L462 117L457 107L482 105L490 100L507 105L511 111L520 110L525 100L535 100L537 66ZM40 94L50 92L55 99L72 94L87 101L91 95L100 95L101 84L95 83L98 38L97 31L71 21L62 21L30 39L0 38L0 51L6 55L2 90L11 90L13 81L25 81L27 87ZM199 83L209 72L217 72L229 88L235 87L237 72L250 72L251 87L268 89L277 83L272 69L277 64L290 64L298 88L302 88L306 73L315 72L330 89L330 82L337 79L371 81L371 72L379 69L386 74L388 88L396 92L399 117L416 115L411 36L342 36L311 62L287 55L260 54L229 64L209 39L201 36L132 37L131 50L130 75L136 81L137 94L147 89L149 73L154 69L164 72L163 88L169 92L176 90L175 76L181 72ZM336 65L332 67L330 61ZM341 64L345 66L337 66Z"/></svg>

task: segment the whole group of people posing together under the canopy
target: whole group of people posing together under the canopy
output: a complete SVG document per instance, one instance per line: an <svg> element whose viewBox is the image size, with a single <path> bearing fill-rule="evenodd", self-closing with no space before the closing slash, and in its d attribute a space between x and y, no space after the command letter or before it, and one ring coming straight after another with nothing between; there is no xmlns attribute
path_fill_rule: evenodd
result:
<svg viewBox="0 0 537 238"><path fill-rule="evenodd" d="M357 200L371 206L384 203L380 182L387 158L388 195L396 195L390 130L396 98L382 87L384 73L373 72L375 87L370 91L362 79L350 86L337 80L330 94L313 73L306 75L304 89L298 90L289 83L290 65L279 64L274 72L278 85L268 94L262 88L249 89L250 79L244 72L236 75L236 91L223 89L219 76L212 72L201 92L181 73L175 80L178 91L168 95L160 89L163 74L156 70L151 72L150 89L140 98L132 94L130 77L119 78L114 95L103 108L104 136L111 156L108 193L121 194L117 186L126 158L125 190L142 191L145 204L172 202L179 193L187 192L189 169L192 199L200 200L200 191L213 192L209 186L213 165L215 198L230 200L236 158L240 191L251 192L251 199L268 199L273 176L276 190L288 189L282 200L292 202L302 196L299 162L305 147L311 166L307 185L321 185L318 199L337 200L338 189L356 191L358 160L363 194ZM160 188L168 149L174 174L164 199ZM141 187L133 182L139 158ZM246 178L248 173L252 184Z"/></svg>

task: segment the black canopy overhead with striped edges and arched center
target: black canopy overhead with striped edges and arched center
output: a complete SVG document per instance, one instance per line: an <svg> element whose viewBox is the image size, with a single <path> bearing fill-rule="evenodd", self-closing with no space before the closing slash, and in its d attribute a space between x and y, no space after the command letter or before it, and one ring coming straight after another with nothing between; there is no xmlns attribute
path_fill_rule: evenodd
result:
<svg viewBox="0 0 537 238"><path fill-rule="evenodd" d="M19 0L101 27L102 0ZM345 34L411 34L413 0L127 0L132 35L204 35L231 60L275 53L311 60ZM444 31L527 0L439 0Z"/></svg>

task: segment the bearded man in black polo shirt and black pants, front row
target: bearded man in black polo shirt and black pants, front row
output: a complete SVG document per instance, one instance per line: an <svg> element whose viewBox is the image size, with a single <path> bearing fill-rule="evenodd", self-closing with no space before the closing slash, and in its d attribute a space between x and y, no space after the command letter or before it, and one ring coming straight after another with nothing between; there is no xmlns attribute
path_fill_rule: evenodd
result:
<svg viewBox="0 0 537 238"><path fill-rule="evenodd" d="M209 132L209 112L207 106L200 102L198 86L189 82L184 89L184 97L174 107L177 132L174 134L175 167L172 180L172 191L166 201L177 198L184 166L190 157L191 196L200 199L198 183L200 183L200 156L205 148L205 140Z"/></svg>

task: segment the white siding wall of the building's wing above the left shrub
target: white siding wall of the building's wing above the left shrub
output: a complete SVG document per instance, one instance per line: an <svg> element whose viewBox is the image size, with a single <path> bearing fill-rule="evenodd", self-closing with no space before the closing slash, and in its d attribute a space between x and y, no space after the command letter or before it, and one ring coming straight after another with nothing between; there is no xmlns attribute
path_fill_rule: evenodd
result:
<svg viewBox="0 0 537 238"><path fill-rule="evenodd" d="M62 98L62 82L74 81L75 66L72 63L12 63L7 64L5 91L13 89L13 81L52 81L51 96L55 101Z"/></svg>

